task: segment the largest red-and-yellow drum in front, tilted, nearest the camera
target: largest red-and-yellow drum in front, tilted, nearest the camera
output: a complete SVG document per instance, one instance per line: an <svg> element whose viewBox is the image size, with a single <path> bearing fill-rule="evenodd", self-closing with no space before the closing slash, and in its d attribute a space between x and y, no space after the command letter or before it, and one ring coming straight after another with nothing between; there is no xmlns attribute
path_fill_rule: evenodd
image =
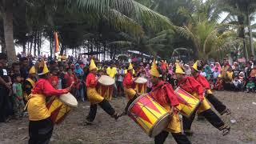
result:
<svg viewBox="0 0 256 144"><path fill-rule="evenodd" d="M164 130L170 122L170 113L148 94L142 94L129 106L128 115L151 138Z"/></svg>

